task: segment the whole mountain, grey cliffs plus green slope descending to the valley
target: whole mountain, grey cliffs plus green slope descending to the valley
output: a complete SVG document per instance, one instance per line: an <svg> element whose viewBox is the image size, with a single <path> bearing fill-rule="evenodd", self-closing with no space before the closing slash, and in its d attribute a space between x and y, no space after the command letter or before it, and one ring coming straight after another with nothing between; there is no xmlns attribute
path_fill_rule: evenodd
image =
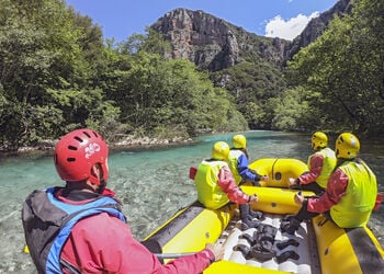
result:
<svg viewBox="0 0 384 274"><path fill-rule="evenodd" d="M349 2L340 0L313 19L293 42L246 32L201 10L172 10L151 28L170 42L167 57L189 59L229 92L250 128L271 129L275 99L287 87L286 61L318 37L334 14L349 11Z"/></svg>

